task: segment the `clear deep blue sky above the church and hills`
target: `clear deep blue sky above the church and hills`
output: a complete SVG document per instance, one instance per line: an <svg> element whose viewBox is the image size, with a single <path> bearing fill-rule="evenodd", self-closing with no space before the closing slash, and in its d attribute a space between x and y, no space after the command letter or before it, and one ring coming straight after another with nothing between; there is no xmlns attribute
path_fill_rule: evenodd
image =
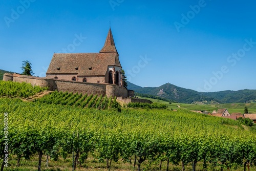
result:
<svg viewBox="0 0 256 171"><path fill-rule="evenodd" d="M97 53L110 21L129 81L256 89L256 1L0 0L0 69L45 76L54 53Z"/></svg>

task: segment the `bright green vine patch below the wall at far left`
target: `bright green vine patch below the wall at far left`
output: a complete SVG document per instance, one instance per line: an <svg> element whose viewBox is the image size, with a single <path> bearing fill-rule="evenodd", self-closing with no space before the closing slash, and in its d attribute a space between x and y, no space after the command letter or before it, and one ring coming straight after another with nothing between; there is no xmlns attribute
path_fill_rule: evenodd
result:
<svg viewBox="0 0 256 171"><path fill-rule="evenodd" d="M32 86L26 82L13 82L0 80L0 97L21 97L27 98L48 88L41 88L39 86Z"/></svg>

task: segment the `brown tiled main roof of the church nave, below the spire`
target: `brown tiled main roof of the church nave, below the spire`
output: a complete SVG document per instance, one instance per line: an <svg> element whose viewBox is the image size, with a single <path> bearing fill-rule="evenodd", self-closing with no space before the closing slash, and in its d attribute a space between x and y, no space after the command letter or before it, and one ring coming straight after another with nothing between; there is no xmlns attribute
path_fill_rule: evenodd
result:
<svg viewBox="0 0 256 171"><path fill-rule="evenodd" d="M121 67L117 53L54 54L47 74L103 76L108 66Z"/></svg>

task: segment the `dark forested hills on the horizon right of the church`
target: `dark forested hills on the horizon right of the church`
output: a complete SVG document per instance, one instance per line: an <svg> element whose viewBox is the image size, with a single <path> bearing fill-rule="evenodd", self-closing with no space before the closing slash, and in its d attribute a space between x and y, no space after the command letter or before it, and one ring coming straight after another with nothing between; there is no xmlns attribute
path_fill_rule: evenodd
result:
<svg viewBox="0 0 256 171"><path fill-rule="evenodd" d="M160 87L142 88L128 82L128 89L135 93L159 96L180 103L203 102L205 104L216 103L250 103L256 102L256 90L220 91L220 92L197 92L185 89L170 83L165 83Z"/></svg>

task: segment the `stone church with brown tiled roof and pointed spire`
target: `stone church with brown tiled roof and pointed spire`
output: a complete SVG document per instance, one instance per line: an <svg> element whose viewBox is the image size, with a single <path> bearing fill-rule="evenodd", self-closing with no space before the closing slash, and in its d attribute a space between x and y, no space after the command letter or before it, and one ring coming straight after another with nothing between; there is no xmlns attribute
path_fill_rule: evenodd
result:
<svg viewBox="0 0 256 171"><path fill-rule="evenodd" d="M110 28L99 53L54 53L46 77L123 87L121 69Z"/></svg>

